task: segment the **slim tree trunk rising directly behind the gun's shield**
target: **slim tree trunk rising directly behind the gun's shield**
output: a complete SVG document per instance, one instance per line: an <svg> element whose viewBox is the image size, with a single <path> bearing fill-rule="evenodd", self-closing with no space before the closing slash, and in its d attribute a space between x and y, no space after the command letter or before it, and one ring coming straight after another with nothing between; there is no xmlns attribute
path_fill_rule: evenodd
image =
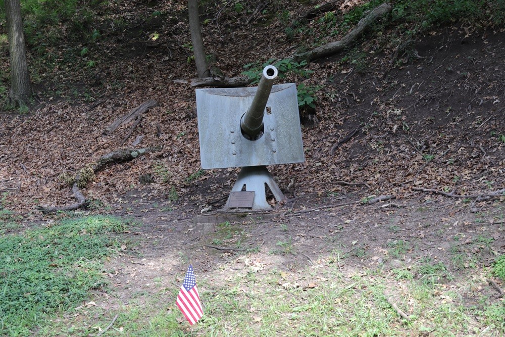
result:
<svg viewBox="0 0 505 337"><path fill-rule="evenodd" d="M198 0L188 0L189 31L193 44L194 62L198 77L210 77L205 56L204 40L201 38L200 20L198 18Z"/></svg>

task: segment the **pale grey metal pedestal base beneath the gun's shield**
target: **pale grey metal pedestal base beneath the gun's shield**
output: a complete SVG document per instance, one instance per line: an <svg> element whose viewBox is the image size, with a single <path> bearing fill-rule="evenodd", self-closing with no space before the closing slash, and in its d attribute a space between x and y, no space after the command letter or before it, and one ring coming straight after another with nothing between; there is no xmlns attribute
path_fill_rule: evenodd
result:
<svg viewBox="0 0 505 337"><path fill-rule="evenodd" d="M284 195L282 194L279 186L274 180L274 177L268 172L266 166L246 166L242 167L242 170L238 174L237 181L231 189L232 192L239 192L245 185L246 191L254 191L254 200L252 202L252 208L250 210L271 210L273 207L267 202L267 196L265 192L265 184L270 188L274 198L277 202L284 200ZM224 206L224 211L234 211L243 210L236 208L229 208L230 197Z"/></svg>

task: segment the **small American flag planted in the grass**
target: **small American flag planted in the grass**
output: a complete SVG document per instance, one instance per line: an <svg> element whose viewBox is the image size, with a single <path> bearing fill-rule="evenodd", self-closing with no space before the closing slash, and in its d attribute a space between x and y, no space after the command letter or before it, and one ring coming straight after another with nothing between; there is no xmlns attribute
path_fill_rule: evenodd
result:
<svg viewBox="0 0 505 337"><path fill-rule="evenodd" d="M175 304L184 314L184 317L189 322L189 325L193 325L197 320L204 315L204 311L201 309L200 296L198 295L198 289L196 288L196 279L193 274L193 267L189 265L184 281L181 285L181 290L177 296Z"/></svg>

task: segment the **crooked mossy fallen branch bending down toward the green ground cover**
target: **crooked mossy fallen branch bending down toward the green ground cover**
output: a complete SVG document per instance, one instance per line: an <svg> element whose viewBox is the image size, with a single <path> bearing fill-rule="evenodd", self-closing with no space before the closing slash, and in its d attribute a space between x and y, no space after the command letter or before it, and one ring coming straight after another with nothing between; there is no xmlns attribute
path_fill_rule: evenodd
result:
<svg viewBox="0 0 505 337"><path fill-rule="evenodd" d="M87 205L86 197L84 197L84 195L79 189L79 186L85 187L85 184L87 183L87 180L81 179L82 173L85 172L84 171L85 169L90 167L92 172L96 173L104 169L108 165L128 162L137 158L138 156L144 155L149 152L158 151L160 149L161 147L152 147L143 149L124 149L113 151L111 153L103 155L95 163L92 163L91 165L85 167L76 174L74 178L74 183L72 184L72 192L74 194L74 198L77 200L75 204L68 206L37 206L35 208L44 214L50 214L59 211L74 211L81 207L85 207Z"/></svg>

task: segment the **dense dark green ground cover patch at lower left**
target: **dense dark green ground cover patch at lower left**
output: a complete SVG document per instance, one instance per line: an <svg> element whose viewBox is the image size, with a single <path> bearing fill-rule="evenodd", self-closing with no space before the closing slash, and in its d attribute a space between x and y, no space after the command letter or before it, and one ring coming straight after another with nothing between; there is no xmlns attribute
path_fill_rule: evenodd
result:
<svg viewBox="0 0 505 337"><path fill-rule="evenodd" d="M91 216L0 237L0 334L28 336L103 288L102 258L128 222Z"/></svg>

